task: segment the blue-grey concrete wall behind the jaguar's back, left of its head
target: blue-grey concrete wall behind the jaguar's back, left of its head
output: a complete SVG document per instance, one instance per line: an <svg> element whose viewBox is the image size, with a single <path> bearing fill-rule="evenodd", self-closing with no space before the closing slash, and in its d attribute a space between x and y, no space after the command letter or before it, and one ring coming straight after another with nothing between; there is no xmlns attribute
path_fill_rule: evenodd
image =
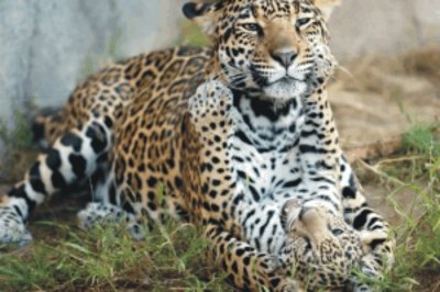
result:
<svg viewBox="0 0 440 292"><path fill-rule="evenodd" d="M0 0L0 119L58 105L112 59L175 42L178 0Z"/></svg>

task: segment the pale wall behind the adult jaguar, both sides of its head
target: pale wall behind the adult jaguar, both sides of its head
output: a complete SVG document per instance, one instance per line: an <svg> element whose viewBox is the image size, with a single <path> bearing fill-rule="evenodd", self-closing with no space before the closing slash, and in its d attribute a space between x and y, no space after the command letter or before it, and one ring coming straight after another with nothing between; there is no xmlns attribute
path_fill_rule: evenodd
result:
<svg viewBox="0 0 440 292"><path fill-rule="evenodd" d="M185 0L0 0L0 120L61 105L113 59L176 44ZM439 0L343 0L331 21L341 60L440 45ZM1 145L0 145L1 148Z"/></svg>

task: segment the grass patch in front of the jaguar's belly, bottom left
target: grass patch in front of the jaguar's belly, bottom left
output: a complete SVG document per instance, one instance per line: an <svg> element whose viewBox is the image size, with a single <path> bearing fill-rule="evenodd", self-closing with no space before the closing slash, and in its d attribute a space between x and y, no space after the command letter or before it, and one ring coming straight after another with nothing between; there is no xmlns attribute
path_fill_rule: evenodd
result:
<svg viewBox="0 0 440 292"><path fill-rule="evenodd" d="M142 243L121 226L82 232L69 224L37 225L52 235L1 256L1 291L229 290L204 263L206 243L191 225L170 222Z"/></svg>

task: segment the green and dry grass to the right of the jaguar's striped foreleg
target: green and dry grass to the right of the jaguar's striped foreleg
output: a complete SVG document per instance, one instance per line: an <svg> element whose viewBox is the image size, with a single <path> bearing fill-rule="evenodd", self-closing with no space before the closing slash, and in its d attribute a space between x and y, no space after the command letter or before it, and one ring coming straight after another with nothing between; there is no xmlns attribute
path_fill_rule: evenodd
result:
<svg viewBox="0 0 440 292"><path fill-rule="evenodd" d="M399 215L396 262L380 291L440 291L440 125L415 126L404 136L399 157L383 159L372 170L389 190ZM414 194L403 201L404 192Z"/></svg>

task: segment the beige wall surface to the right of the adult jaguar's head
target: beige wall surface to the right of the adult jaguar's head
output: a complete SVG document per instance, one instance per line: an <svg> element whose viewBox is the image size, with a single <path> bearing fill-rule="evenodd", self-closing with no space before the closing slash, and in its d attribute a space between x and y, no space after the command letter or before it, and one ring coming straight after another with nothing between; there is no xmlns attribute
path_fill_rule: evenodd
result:
<svg viewBox="0 0 440 292"><path fill-rule="evenodd" d="M342 0L330 21L339 60L440 44L438 0Z"/></svg>

